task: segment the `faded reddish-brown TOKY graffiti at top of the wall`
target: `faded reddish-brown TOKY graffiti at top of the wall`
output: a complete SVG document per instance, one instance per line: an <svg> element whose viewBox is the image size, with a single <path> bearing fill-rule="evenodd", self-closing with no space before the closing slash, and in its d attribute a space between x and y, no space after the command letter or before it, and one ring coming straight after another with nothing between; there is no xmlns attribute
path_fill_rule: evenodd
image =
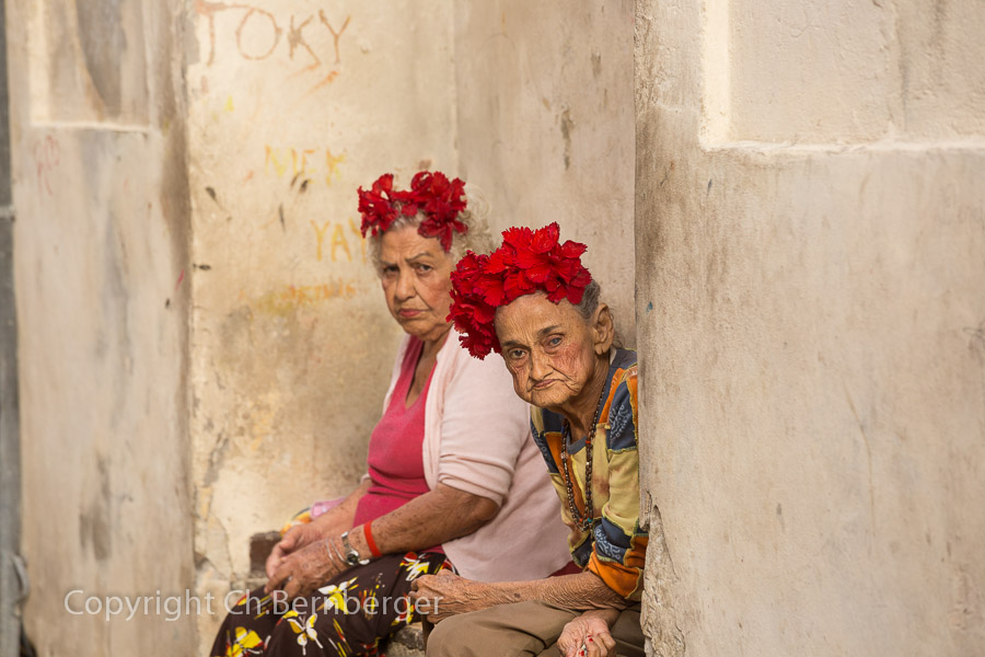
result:
<svg viewBox="0 0 985 657"><path fill-rule="evenodd" d="M234 56L250 61L281 56L292 64L302 65L299 72L317 74L318 82L312 91L338 76L335 67L341 64L339 44L352 19L349 15L344 19L329 18L324 9L317 13L285 18L254 4L209 0L196 0L195 11L208 23L209 55L206 66L216 62L217 35L233 38ZM322 32L318 38L309 41L309 36L316 31ZM326 38L329 35L332 38Z"/></svg>

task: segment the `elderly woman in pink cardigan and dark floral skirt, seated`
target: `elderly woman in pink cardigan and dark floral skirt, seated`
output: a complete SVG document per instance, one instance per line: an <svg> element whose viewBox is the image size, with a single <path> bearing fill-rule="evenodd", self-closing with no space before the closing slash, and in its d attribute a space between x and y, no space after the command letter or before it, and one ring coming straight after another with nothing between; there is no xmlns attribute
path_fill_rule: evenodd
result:
<svg viewBox="0 0 985 657"><path fill-rule="evenodd" d="M421 172L359 189L363 235L391 314L407 336L368 474L340 504L293 527L244 596L212 655L376 655L415 620L412 583L454 568L470 579L546 577L570 564L526 405L502 362L449 339L450 274L489 239L464 183ZM440 604L440 601L437 602Z"/></svg>

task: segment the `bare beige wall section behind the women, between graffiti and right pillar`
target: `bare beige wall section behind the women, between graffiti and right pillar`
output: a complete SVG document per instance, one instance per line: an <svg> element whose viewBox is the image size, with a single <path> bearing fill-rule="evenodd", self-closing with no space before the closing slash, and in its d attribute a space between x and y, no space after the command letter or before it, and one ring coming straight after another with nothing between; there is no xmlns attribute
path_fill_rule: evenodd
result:
<svg viewBox="0 0 985 657"><path fill-rule="evenodd" d="M557 221L636 344L629 0L455 2L459 160L494 235Z"/></svg>

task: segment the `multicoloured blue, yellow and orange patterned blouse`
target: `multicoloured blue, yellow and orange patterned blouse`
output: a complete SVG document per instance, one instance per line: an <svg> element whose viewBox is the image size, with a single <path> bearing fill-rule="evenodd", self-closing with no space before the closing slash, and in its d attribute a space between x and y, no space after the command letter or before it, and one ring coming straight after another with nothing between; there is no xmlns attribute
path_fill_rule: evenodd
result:
<svg viewBox="0 0 985 657"><path fill-rule="evenodd" d="M531 406L531 428L551 481L561 499L561 519L570 529L568 545L575 563L598 575L629 600L642 595L647 532L639 528L639 452L636 396L636 353L616 349L602 391L602 411L592 441L592 516L601 518L591 531L575 523L561 476L564 417ZM584 439L568 446L568 468L575 504L584 514Z"/></svg>

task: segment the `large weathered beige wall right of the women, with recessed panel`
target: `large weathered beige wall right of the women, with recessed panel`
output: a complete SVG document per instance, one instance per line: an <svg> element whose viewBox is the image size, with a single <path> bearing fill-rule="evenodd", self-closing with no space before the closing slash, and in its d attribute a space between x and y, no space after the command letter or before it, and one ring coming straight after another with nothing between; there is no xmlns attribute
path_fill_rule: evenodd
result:
<svg viewBox="0 0 985 657"><path fill-rule="evenodd" d="M637 3L653 654L977 655L985 11L752 7Z"/></svg>

